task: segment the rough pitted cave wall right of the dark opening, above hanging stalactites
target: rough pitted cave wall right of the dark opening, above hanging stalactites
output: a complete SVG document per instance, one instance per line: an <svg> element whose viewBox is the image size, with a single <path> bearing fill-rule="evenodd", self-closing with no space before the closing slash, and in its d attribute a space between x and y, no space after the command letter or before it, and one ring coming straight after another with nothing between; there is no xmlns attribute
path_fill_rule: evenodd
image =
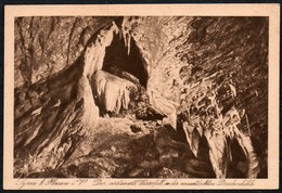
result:
<svg viewBox="0 0 282 193"><path fill-rule="evenodd" d="M149 16L124 23L149 64L148 90L177 102L181 112L198 85L210 82L207 90L221 89L221 105L245 108L252 132L267 140L267 17ZM227 85L235 88L235 101L223 100L222 92L232 92Z"/></svg>

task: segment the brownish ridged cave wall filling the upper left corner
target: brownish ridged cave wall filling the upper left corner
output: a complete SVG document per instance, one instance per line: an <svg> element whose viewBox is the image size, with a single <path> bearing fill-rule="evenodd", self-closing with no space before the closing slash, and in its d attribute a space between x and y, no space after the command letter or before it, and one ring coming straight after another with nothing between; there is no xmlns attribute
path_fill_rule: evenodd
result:
<svg viewBox="0 0 282 193"><path fill-rule="evenodd" d="M69 67L92 35L112 21L92 16L16 17L15 87L33 85Z"/></svg>

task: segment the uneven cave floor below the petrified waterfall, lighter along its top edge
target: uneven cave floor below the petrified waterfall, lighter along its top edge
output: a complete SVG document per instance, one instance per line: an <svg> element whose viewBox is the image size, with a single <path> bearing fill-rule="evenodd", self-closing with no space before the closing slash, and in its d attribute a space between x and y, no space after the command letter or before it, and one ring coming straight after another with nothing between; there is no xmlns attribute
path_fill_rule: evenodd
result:
<svg viewBox="0 0 282 193"><path fill-rule="evenodd" d="M192 178L183 170L187 144L162 120L100 118L73 155L30 178Z"/></svg>

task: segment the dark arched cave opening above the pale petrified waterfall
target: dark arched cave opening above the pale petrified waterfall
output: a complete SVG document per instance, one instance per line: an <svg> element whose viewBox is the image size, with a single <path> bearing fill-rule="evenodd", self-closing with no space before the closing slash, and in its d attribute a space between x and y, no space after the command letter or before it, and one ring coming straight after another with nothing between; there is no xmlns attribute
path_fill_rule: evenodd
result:
<svg viewBox="0 0 282 193"><path fill-rule="evenodd" d="M120 34L114 36L111 46L105 50L102 69L146 88L149 76L146 62L142 57L133 38L130 41L129 52Z"/></svg>

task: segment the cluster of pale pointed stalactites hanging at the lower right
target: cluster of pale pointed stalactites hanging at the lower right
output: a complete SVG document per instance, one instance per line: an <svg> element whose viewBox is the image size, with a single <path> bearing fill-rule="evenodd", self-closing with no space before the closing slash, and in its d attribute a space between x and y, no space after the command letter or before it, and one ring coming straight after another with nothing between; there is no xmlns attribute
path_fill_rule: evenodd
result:
<svg viewBox="0 0 282 193"><path fill-rule="evenodd" d="M183 121L183 130L191 151L197 156L198 140L205 136L209 145L209 158L217 178L226 178L228 163L232 162L232 154L229 139L235 139L242 147L248 159L248 178L256 178L259 167L258 158L252 145L251 137L242 132L238 126L242 118L245 118L245 111L232 106L222 114L222 107L217 100L217 90L211 89L211 82L204 82L191 87L191 94L195 92L197 98L191 101L193 107L187 115L187 121ZM236 97L234 86L230 87L233 99ZM196 91L195 91L196 90ZM193 112L196 110L196 112ZM204 112L204 113L203 113Z"/></svg>

